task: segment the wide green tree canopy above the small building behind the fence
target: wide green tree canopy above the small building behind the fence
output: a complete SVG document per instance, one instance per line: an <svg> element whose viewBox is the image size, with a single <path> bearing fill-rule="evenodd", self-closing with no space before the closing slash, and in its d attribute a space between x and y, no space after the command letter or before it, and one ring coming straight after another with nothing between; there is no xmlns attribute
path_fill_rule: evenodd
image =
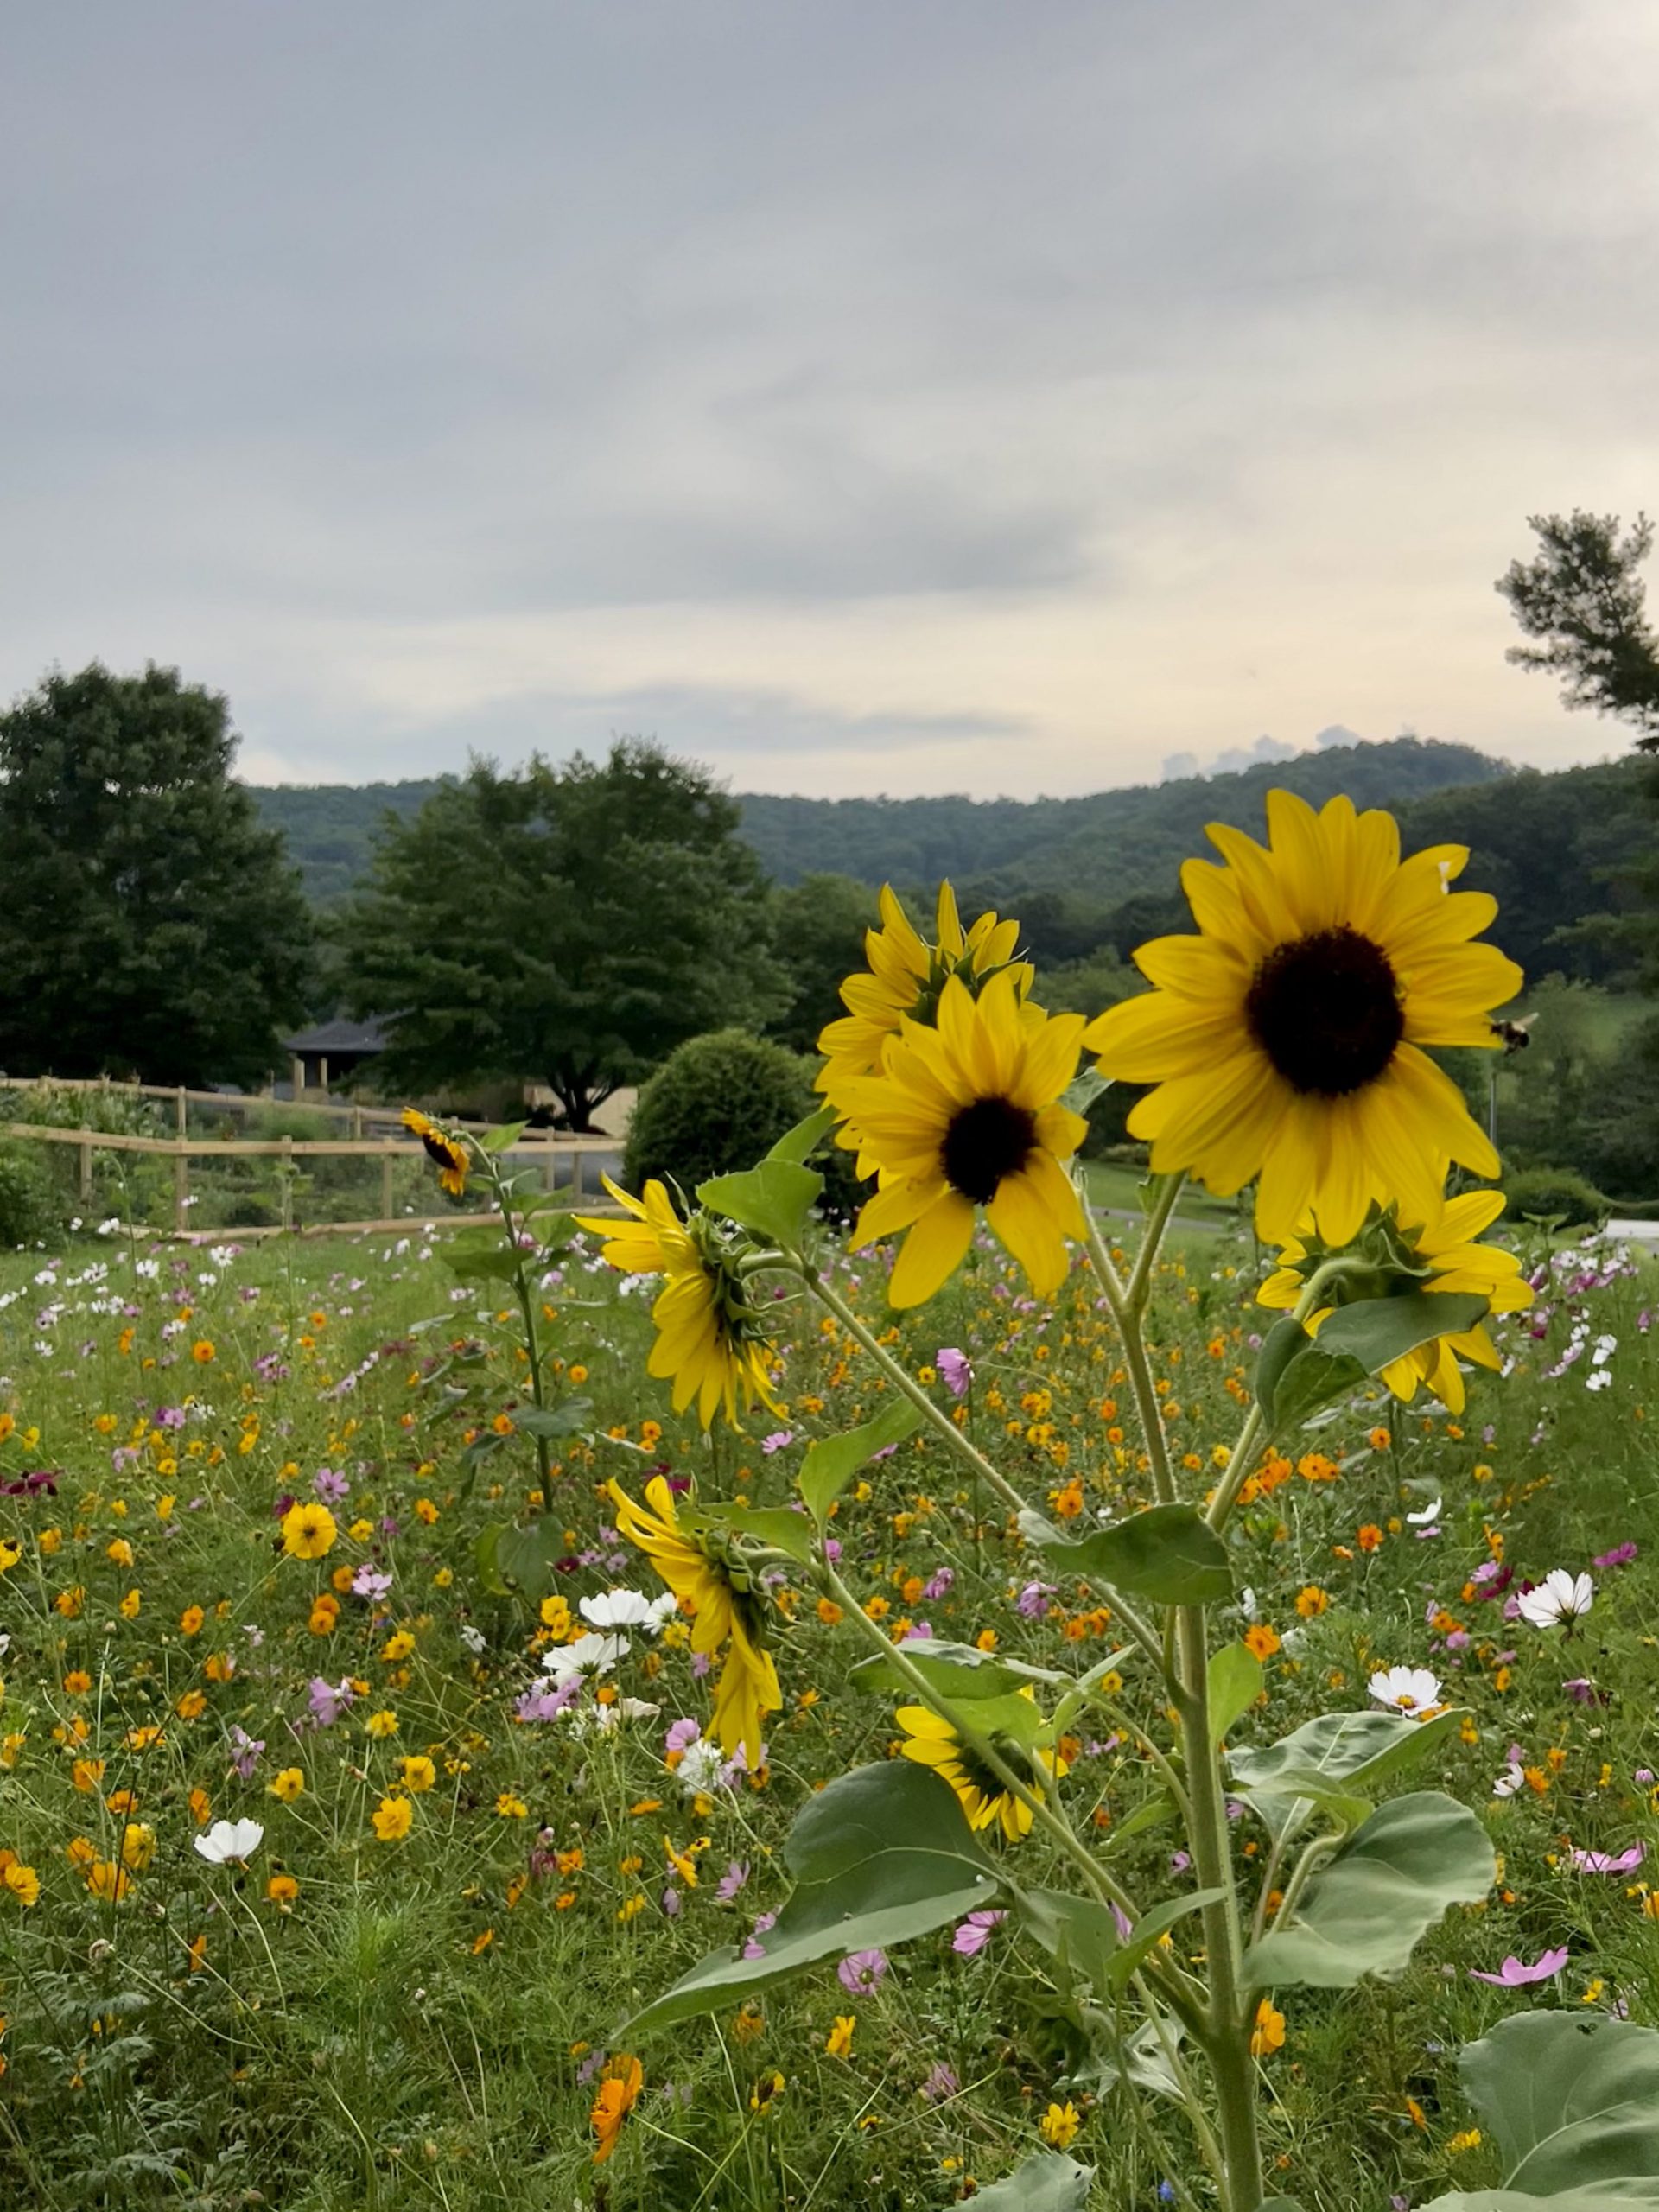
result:
<svg viewBox="0 0 1659 2212"><path fill-rule="evenodd" d="M739 810L701 768L626 739L606 761L473 761L387 816L341 911L352 1011L380 1073L427 1086L540 1077L571 1128L681 1040L763 1026L785 984Z"/></svg>

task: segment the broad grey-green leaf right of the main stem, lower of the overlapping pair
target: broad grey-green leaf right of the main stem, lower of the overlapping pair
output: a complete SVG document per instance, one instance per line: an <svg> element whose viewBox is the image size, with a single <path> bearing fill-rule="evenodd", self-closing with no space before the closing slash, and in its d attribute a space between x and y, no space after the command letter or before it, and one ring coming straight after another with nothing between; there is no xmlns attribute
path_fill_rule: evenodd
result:
<svg viewBox="0 0 1659 2212"><path fill-rule="evenodd" d="M1451 1905L1478 1905L1498 1878L1491 1838L1436 1790L1380 1805L1310 1882L1287 1927L1245 1953L1252 1989L1352 1989L1400 1973Z"/></svg>

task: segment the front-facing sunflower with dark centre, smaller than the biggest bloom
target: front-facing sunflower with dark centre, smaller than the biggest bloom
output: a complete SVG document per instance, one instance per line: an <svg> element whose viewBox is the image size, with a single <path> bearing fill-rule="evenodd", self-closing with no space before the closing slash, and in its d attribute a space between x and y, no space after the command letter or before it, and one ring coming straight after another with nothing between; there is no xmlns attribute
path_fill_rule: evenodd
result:
<svg viewBox="0 0 1659 2212"><path fill-rule="evenodd" d="M883 1048L880 1075L838 1088L880 1188L854 1243L909 1230L894 1265L894 1305L920 1305L960 1265L984 1206L1037 1296L1066 1279L1066 1239L1082 1206L1060 1166L1086 1121L1060 1104L1077 1073L1079 1013L1022 1006L1004 969L973 998L958 975L938 995L938 1029L905 1022Z"/></svg>

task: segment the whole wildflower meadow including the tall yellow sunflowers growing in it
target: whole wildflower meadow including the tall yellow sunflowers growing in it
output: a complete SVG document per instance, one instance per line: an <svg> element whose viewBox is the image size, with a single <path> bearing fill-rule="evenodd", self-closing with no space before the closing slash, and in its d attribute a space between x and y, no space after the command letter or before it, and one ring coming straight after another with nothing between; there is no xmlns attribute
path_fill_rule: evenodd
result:
<svg viewBox="0 0 1659 2212"><path fill-rule="evenodd" d="M0 2203L1659 2203L1659 1283L1460 847L1214 843L1095 1022L887 896L699 1190L4 1256Z"/></svg>

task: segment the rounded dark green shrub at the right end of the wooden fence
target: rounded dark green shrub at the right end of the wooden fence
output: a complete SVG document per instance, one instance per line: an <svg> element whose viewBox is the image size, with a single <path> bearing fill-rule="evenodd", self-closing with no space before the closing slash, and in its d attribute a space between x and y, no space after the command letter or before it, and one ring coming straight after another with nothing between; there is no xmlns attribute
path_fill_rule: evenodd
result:
<svg viewBox="0 0 1659 2212"><path fill-rule="evenodd" d="M816 1071L816 1060L745 1029L690 1037L635 1099L624 1183L641 1190L657 1177L679 1183L690 1199L710 1175L752 1168L821 1104L812 1091ZM858 1203L849 1155L825 1148L812 1166L825 1177L825 1212L849 1212Z"/></svg>

